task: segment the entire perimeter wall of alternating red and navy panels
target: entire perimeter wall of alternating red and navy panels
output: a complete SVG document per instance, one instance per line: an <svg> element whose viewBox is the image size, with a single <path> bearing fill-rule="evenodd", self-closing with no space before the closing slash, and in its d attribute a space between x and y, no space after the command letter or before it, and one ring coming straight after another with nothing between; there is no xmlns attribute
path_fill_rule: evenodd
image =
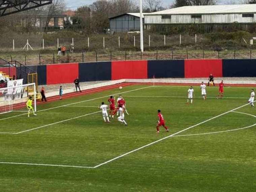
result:
<svg viewBox="0 0 256 192"><path fill-rule="evenodd" d="M255 77L256 59L138 60L65 63L30 66L37 70L38 85L117 79ZM17 68L17 71L19 69ZM18 72L17 72L18 73Z"/></svg>

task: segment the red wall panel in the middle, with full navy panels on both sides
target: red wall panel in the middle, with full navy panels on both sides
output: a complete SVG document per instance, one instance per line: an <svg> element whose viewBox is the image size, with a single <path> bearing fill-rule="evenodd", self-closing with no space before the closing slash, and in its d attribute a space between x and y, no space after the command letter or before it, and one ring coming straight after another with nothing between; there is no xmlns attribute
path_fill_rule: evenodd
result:
<svg viewBox="0 0 256 192"><path fill-rule="evenodd" d="M148 61L112 61L111 79L148 78Z"/></svg>

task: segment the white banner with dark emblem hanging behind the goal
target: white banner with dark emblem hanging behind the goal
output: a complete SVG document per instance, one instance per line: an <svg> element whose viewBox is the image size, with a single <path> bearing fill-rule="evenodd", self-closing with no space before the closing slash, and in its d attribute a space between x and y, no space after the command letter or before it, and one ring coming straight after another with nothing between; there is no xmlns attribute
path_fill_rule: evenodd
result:
<svg viewBox="0 0 256 192"><path fill-rule="evenodd" d="M16 87L16 88L12 88L15 86L19 86L19 85L23 85L23 79L17 79L17 80L9 80L7 82L7 95L9 95L9 97L6 97L6 100L10 100L10 99L20 99L21 98L21 92L23 87ZM10 95L12 95L10 98Z"/></svg>

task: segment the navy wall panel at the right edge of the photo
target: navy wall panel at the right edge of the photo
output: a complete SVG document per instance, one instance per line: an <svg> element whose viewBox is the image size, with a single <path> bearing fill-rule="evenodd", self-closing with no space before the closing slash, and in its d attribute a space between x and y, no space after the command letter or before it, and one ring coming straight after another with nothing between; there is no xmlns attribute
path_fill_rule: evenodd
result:
<svg viewBox="0 0 256 192"><path fill-rule="evenodd" d="M255 77L256 59L223 59L223 77Z"/></svg>

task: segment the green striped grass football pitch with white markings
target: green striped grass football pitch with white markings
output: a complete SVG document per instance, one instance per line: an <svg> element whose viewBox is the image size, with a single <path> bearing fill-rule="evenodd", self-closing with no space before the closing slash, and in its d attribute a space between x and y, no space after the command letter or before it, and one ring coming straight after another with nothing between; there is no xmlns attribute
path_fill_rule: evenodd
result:
<svg viewBox="0 0 256 192"><path fill-rule="evenodd" d="M256 107L250 89L131 85L0 115L1 191L255 191ZM122 92L122 93L121 93ZM128 126L97 107L126 100ZM156 133L161 109L170 132Z"/></svg>

